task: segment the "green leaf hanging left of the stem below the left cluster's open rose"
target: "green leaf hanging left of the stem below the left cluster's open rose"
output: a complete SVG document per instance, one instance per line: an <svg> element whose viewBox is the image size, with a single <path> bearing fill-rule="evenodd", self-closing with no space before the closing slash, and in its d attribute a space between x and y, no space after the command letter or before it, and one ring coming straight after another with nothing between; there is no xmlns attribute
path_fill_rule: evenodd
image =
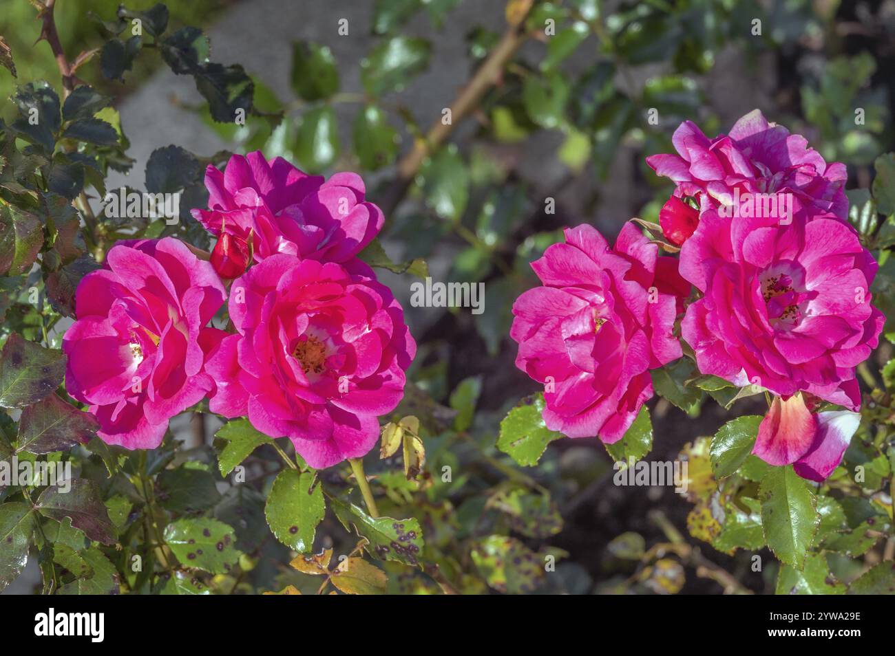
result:
<svg viewBox="0 0 895 656"><path fill-rule="evenodd" d="M299 553L313 548L317 525L326 512L323 490L310 472L284 469L270 488L264 515L277 540Z"/></svg>

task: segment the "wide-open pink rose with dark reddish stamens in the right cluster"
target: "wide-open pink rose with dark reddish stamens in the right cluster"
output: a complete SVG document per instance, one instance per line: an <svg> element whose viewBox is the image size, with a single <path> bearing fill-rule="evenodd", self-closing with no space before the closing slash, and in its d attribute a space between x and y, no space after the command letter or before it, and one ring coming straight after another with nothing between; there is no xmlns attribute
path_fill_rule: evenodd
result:
<svg viewBox="0 0 895 656"><path fill-rule="evenodd" d="M855 367L884 322L870 303L877 264L835 214L798 210L791 223L703 212L680 252L681 275L703 292L682 334L703 374L857 410Z"/></svg>

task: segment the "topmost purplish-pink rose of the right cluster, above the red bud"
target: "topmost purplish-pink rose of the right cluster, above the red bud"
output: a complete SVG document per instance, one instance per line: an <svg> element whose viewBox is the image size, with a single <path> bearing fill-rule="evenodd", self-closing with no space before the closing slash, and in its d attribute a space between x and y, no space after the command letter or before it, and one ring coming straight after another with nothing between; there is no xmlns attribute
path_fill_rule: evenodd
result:
<svg viewBox="0 0 895 656"><path fill-rule="evenodd" d="M678 187L678 198L698 199L701 210L731 205L735 192L795 195L809 215L848 217L845 164L827 164L800 134L769 123L760 110L739 119L729 134L709 139L685 121L672 137L677 155L653 155L646 163Z"/></svg>

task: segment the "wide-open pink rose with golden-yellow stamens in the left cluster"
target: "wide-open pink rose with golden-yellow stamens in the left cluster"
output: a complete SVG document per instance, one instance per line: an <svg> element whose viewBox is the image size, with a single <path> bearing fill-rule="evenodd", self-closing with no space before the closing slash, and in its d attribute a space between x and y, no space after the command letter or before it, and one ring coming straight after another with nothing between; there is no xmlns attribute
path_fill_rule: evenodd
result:
<svg viewBox="0 0 895 656"><path fill-rule="evenodd" d="M371 450L416 344L369 267L275 254L234 281L229 308L238 333L209 357L211 411L288 437L311 467Z"/></svg>

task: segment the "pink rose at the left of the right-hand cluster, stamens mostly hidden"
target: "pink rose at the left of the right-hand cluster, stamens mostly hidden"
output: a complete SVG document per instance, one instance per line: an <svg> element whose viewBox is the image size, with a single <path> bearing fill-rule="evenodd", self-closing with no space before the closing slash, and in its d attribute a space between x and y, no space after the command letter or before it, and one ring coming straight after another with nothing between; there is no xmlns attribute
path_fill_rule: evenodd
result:
<svg viewBox="0 0 895 656"><path fill-rule="evenodd" d="M544 422L617 442L652 397L649 370L681 356L672 333L689 286L633 223L615 248L590 225L533 262L543 287L513 305L516 366L544 383Z"/></svg>

